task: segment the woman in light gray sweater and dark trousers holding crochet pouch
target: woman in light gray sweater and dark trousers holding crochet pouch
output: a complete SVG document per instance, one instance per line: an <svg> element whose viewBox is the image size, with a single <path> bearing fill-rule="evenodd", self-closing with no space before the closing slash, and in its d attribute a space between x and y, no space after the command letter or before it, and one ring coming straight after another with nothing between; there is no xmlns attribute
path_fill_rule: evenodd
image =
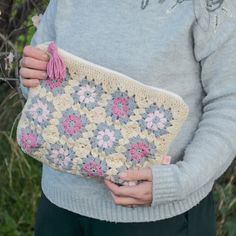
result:
<svg viewBox="0 0 236 236"><path fill-rule="evenodd" d="M142 180L137 186L43 166L36 236L216 234L212 187L236 153L235 13L233 0L50 1L33 47L56 41L88 61L177 93L190 112L169 149L171 165L122 175ZM47 78L48 56L33 47L24 49L25 87Z"/></svg>

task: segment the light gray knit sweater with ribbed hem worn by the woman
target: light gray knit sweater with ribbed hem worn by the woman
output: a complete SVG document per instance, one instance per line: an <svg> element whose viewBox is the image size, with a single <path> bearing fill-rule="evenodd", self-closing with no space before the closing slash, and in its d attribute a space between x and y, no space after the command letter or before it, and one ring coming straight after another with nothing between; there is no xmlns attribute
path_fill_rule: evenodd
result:
<svg viewBox="0 0 236 236"><path fill-rule="evenodd" d="M236 1L150 0L143 10L141 2L51 0L32 40L55 40L189 105L168 152L172 164L152 168L151 207L117 206L102 181L43 166L42 190L51 202L106 221L155 221L190 209L236 154Z"/></svg>

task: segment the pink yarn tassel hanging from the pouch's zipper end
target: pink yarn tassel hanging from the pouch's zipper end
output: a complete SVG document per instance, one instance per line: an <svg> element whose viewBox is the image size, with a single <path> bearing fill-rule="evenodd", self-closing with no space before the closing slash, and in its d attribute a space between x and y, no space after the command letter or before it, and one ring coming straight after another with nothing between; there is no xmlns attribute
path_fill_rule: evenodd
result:
<svg viewBox="0 0 236 236"><path fill-rule="evenodd" d="M66 65L58 54L55 42L48 46L48 52L51 54L47 65L47 74L50 79L63 81L66 78Z"/></svg>

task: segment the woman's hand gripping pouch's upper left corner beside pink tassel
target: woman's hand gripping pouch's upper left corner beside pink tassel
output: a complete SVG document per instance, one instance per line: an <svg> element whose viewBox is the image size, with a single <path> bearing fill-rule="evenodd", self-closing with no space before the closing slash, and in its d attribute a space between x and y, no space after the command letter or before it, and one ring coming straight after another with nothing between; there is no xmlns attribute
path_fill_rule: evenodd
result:
<svg viewBox="0 0 236 236"><path fill-rule="evenodd" d="M38 48L26 46L20 62L22 84L31 88L39 85L39 80L47 78L49 56Z"/></svg>

